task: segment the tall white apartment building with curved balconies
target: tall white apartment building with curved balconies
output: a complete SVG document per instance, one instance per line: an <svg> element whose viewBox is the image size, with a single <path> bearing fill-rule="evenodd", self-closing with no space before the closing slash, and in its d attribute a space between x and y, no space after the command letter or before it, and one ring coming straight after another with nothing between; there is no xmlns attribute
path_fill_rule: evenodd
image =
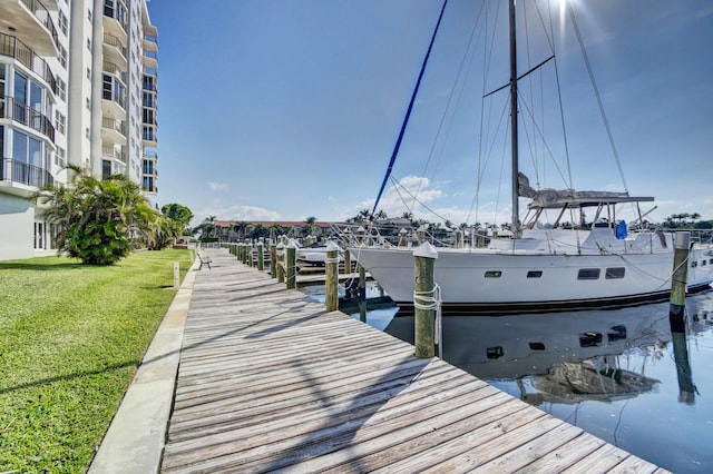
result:
<svg viewBox="0 0 713 474"><path fill-rule="evenodd" d="M0 0L0 260L52 248L67 164L157 195L157 53L147 0Z"/></svg>

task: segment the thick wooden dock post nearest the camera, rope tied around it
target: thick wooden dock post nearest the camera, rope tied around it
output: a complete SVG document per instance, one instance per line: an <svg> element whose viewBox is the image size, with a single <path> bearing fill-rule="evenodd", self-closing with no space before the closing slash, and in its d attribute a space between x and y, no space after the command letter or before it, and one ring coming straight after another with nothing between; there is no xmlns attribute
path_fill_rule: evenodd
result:
<svg viewBox="0 0 713 474"><path fill-rule="evenodd" d="M428 295L433 295L436 287L433 268L438 253L428 241L421 244L413 250L413 263L416 270L414 280L414 346L416 356L429 358L436 355L436 324L433 320L436 310L432 302L424 299Z"/></svg>

